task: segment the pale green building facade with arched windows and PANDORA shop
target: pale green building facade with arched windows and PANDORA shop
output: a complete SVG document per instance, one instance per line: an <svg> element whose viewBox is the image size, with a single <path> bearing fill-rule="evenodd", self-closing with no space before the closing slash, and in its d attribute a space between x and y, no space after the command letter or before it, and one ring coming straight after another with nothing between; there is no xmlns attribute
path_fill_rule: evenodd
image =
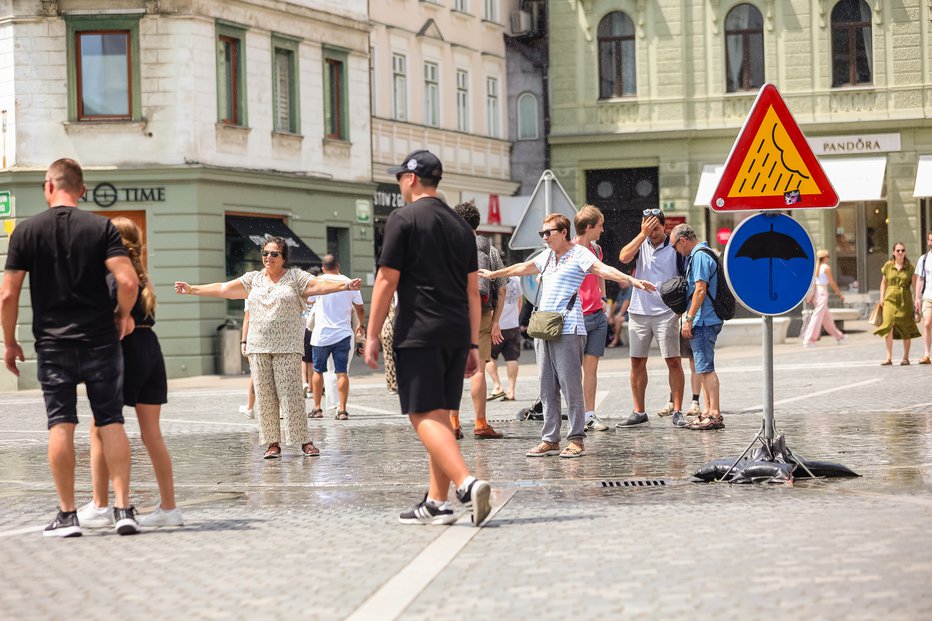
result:
<svg viewBox="0 0 932 621"><path fill-rule="evenodd" d="M894 242L923 251L926 0L569 0L549 10L553 168L578 202L606 212L609 250L630 239L645 207L724 248L748 213L713 213L709 199L770 82L840 195L837 209L793 215L832 253L846 297L879 289Z"/></svg>

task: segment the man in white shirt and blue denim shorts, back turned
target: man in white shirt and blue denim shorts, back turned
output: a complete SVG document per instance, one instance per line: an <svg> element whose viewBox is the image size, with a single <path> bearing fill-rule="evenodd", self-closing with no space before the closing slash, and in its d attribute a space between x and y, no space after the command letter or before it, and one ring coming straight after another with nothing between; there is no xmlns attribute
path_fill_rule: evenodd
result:
<svg viewBox="0 0 932 621"><path fill-rule="evenodd" d="M340 264L332 254L323 258L323 274L318 278L325 280L345 280L349 278L340 274ZM315 301L314 330L311 333L311 350L314 361L314 375L311 378L311 389L314 392L314 409L308 418L321 418L323 411L320 407L324 392L324 373L327 371L327 360L333 358L334 372L337 374L337 393L340 405L337 409L336 419L346 420L349 414L346 411L346 400L349 398L349 375L346 366L349 362L351 341L353 337L353 316L355 312L359 317L359 328L356 338L362 339L365 325L365 309L362 295L359 291L345 291L318 297Z"/></svg>

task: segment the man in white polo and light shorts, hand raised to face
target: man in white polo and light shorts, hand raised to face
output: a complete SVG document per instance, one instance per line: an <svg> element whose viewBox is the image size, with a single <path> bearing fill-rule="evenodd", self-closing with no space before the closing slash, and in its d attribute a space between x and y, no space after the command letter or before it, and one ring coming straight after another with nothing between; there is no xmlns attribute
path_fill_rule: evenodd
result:
<svg viewBox="0 0 932 621"><path fill-rule="evenodd" d="M660 209L645 209L642 215L640 232L621 249L618 259L622 263L635 260L638 278L659 288L663 281L685 271L683 259L673 248L670 236L664 230L666 218L663 212ZM631 295L628 318L634 411L616 427L631 429L650 425L644 400L647 392L647 356L654 338L660 345L660 355L667 363L670 392L673 395L673 425L686 426L680 411L686 380L680 363L679 316L663 303L658 292L636 289Z"/></svg>

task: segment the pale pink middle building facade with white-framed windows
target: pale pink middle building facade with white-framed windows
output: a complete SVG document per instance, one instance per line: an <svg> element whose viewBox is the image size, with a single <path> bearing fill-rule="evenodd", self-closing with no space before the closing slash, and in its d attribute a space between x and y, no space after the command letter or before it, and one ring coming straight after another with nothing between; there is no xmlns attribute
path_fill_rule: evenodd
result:
<svg viewBox="0 0 932 621"><path fill-rule="evenodd" d="M511 231L513 224L495 215L518 185L509 160L504 4L369 2L376 254L385 221L401 204L385 171L415 149L443 162L440 193L447 203L473 199L484 232Z"/></svg>

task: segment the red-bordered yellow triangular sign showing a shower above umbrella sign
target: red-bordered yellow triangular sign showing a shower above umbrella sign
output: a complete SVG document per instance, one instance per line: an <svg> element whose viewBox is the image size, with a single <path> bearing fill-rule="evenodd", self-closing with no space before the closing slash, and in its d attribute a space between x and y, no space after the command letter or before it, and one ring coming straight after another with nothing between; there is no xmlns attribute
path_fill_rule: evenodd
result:
<svg viewBox="0 0 932 621"><path fill-rule="evenodd" d="M773 84L764 84L735 140L715 211L835 207L838 194Z"/></svg>

